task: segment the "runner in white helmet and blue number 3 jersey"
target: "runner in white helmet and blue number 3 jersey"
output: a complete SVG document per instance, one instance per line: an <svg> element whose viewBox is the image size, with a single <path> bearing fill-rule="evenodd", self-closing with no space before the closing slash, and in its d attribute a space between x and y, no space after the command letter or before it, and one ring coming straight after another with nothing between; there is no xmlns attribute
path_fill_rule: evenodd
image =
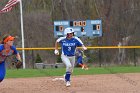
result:
<svg viewBox="0 0 140 93"><path fill-rule="evenodd" d="M66 28L64 30L64 35L66 37L60 37L56 40L54 51L56 55L59 55L58 44L60 44L62 49L61 59L63 63L66 65L65 81L67 87L70 86L70 76L73 72L75 65L76 47L82 46L84 50L87 50L87 48L84 46L81 40L73 36L73 32L74 32L73 28Z"/></svg>

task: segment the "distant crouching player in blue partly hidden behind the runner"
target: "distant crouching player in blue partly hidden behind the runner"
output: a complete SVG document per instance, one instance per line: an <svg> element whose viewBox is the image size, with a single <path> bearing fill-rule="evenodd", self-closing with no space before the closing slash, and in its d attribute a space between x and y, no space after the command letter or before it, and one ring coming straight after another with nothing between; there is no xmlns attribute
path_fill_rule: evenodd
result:
<svg viewBox="0 0 140 93"><path fill-rule="evenodd" d="M84 51L81 50L81 49L76 49L76 61L77 61L77 64L79 66L82 67L82 69L85 69L85 70L88 70L88 67L86 64L83 63L83 59L85 58L86 56L84 55Z"/></svg>

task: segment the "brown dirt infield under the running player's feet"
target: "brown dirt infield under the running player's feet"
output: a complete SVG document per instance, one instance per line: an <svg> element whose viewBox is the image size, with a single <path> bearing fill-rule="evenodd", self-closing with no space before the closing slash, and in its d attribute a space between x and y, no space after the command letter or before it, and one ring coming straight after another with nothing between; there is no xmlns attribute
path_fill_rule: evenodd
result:
<svg viewBox="0 0 140 93"><path fill-rule="evenodd" d="M140 93L140 73L73 76L71 87L54 78L5 79L0 93Z"/></svg>

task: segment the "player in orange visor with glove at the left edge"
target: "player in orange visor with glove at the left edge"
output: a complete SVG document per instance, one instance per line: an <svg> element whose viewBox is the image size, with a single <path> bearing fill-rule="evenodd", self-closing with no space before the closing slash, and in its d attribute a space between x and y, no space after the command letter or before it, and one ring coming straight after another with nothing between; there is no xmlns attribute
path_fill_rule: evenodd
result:
<svg viewBox="0 0 140 93"><path fill-rule="evenodd" d="M13 45L15 37L7 35L3 38L0 44L0 82L4 79L6 68L5 68L5 60L10 55L16 55L17 63L16 67L20 67L22 65L21 57L16 50L16 47Z"/></svg>

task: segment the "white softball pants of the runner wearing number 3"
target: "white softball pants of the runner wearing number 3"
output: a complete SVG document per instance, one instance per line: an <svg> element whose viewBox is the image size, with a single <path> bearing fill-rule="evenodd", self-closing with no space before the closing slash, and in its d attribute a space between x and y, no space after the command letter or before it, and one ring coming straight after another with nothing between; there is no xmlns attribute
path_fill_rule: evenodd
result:
<svg viewBox="0 0 140 93"><path fill-rule="evenodd" d="M66 65L66 72L73 72L75 65L75 56L66 56L61 54L61 59L63 63Z"/></svg>

